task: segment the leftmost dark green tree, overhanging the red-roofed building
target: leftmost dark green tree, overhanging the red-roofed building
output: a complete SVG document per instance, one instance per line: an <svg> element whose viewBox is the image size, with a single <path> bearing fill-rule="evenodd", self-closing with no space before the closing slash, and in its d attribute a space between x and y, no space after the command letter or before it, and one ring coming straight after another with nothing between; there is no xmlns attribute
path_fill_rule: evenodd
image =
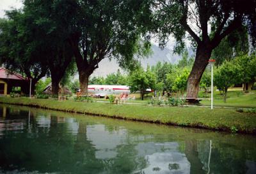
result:
<svg viewBox="0 0 256 174"><path fill-rule="evenodd" d="M33 36L28 28L33 30L26 15L18 10L7 12L8 19L0 24L0 63L13 72L20 72L31 79L31 92L35 84L47 74L47 61L32 54L35 48ZM30 30L30 31L31 31Z"/></svg>

